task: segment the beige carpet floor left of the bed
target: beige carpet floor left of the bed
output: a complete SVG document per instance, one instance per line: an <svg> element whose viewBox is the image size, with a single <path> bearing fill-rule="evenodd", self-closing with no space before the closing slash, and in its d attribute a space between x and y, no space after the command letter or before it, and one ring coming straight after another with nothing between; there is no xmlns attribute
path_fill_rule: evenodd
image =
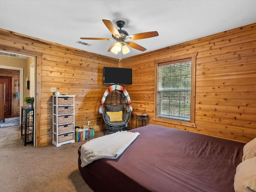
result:
<svg viewBox="0 0 256 192"><path fill-rule="evenodd" d="M95 137L104 132L95 133ZM92 192L78 170L78 148L84 144L24 146L19 126L0 129L0 191Z"/></svg>

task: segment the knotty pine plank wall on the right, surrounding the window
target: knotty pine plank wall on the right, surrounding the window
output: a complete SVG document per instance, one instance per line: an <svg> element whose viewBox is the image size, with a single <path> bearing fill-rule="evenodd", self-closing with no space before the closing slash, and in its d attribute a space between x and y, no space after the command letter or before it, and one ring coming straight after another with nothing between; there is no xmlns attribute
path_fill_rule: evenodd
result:
<svg viewBox="0 0 256 192"><path fill-rule="evenodd" d="M150 39L148 39L150 41ZM196 128L154 121L155 65L158 61L198 52L196 58ZM174 127L229 140L256 137L256 24L122 59L132 68L128 92L135 113L147 113L149 124Z"/></svg>

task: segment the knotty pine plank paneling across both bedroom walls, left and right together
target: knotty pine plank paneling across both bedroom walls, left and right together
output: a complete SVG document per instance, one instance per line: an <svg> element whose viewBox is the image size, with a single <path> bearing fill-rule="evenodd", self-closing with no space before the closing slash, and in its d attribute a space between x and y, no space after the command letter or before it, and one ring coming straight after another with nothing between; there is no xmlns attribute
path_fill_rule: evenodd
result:
<svg viewBox="0 0 256 192"><path fill-rule="evenodd" d="M91 121L96 131L105 126L98 106L107 85L103 66L133 69L133 84L126 85L134 111L128 123L135 128L135 113L147 113L149 124L248 142L256 136L256 24L202 37L154 52L122 59L92 54L30 36L0 30L0 49L37 56L37 146L52 142L52 94L76 95L75 124ZM155 65L198 52L196 57L196 128L153 120ZM38 70L39 69L39 70ZM139 124L140 126L141 124Z"/></svg>

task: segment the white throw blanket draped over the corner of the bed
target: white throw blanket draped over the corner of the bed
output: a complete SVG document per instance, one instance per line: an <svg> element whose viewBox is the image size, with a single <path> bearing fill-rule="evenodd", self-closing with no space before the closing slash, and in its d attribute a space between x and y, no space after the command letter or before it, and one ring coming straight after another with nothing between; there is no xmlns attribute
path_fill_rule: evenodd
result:
<svg viewBox="0 0 256 192"><path fill-rule="evenodd" d="M100 158L118 158L138 135L138 132L120 131L86 142L81 147L81 167Z"/></svg>

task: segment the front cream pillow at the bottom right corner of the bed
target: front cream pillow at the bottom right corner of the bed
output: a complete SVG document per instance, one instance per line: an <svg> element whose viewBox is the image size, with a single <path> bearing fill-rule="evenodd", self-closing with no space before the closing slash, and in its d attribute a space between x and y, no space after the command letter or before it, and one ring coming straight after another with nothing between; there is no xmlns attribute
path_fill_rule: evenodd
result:
<svg viewBox="0 0 256 192"><path fill-rule="evenodd" d="M234 177L235 192L256 191L256 157L241 162Z"/></svg>

